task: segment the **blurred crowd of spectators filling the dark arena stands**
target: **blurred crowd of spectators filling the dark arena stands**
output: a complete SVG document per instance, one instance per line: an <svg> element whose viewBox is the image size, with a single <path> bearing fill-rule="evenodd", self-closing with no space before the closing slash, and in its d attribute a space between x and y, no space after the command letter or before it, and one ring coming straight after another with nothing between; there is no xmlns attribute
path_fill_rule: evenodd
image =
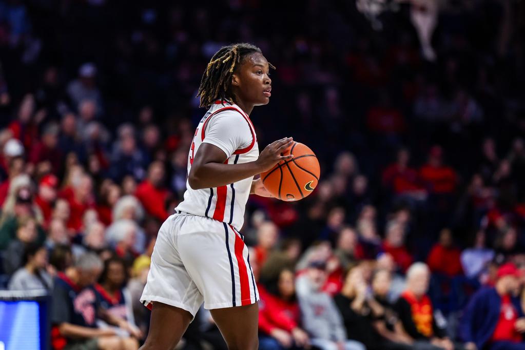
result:
<svg viewBox="0 0 525 350"><path fill-rule="evenodd" d="M259 144L321 163L248 202L260 348L525 348L525 3L442 1L423 43L426 3L0 0L0 288L53 296L55 349L138 348L198 83L248 41L277 67ZM181 348L226 349L209 312Z"/></svg>

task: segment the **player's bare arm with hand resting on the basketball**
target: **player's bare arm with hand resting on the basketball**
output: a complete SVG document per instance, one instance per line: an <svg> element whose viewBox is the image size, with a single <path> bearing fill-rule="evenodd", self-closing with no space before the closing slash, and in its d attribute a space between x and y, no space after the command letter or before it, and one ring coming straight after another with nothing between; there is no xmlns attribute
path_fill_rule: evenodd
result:
<svg viewBox="0 0 525 350"><path fill-rule="evenodd" d="M270 169L280 161L290 160L293 155L281 156L293 143L292 137L285 137L270 143L254 162L224 164L227 156L219 147L203 143L193 161L188 182L193 189L224 186Z"/></svg>

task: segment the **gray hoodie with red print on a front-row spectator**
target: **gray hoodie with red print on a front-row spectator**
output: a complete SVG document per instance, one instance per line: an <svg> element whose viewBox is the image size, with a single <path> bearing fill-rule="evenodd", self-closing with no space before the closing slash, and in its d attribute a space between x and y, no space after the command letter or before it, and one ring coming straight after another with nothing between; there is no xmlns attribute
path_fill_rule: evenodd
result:
<svg viewBox="0 0 525 350"><path fill-rule="evenodd" d="M297 279L296 293L304 330L313 338L346 341L341 314L330 295L316 290L305 275Z"/></svg>

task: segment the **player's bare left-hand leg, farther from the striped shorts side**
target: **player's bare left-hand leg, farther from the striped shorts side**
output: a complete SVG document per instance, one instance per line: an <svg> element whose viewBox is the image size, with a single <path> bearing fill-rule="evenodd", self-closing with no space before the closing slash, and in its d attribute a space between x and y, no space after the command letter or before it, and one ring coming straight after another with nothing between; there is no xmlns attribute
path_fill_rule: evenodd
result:
<svg viewBox="0 0 525 350"><path fill-rule="evenodd" d="M141 350L172 350L192 320L193 315L180 307L153 302L150 330Z"/></svg>

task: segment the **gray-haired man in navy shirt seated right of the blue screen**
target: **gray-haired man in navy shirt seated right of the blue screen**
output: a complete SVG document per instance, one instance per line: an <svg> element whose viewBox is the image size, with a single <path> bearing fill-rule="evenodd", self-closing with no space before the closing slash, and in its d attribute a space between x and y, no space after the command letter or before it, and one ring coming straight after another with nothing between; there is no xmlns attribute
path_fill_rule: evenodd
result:
<svg viewBox="0 0 525 350"><path fill-rule="evenodd" d="M97 315L97 300L92 289L102 271L100 259L92 253L83 254L74 266L59 272L54 282L51 307L51 344L54 349L138 349L137 340L121 337L112 328L97 328L97 316L118 324L110 314ZM81 305L79 307L78 305Z"/></svg>

